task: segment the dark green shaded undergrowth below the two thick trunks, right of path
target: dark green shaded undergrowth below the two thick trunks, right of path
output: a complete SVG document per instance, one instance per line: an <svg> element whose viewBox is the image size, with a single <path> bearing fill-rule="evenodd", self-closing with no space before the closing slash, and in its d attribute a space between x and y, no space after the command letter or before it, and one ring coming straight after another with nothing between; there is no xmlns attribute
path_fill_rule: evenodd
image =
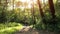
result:
<svg viewBox="0 0 60 34"><path fill-rule="evenodd" d="M38 30L48 30L48 31L56 31L56 32L60 32L60 18L56 18L55 21L52 20L47 20L45 22L38 22L38 24L35 25L35 28Z"/></svg>

